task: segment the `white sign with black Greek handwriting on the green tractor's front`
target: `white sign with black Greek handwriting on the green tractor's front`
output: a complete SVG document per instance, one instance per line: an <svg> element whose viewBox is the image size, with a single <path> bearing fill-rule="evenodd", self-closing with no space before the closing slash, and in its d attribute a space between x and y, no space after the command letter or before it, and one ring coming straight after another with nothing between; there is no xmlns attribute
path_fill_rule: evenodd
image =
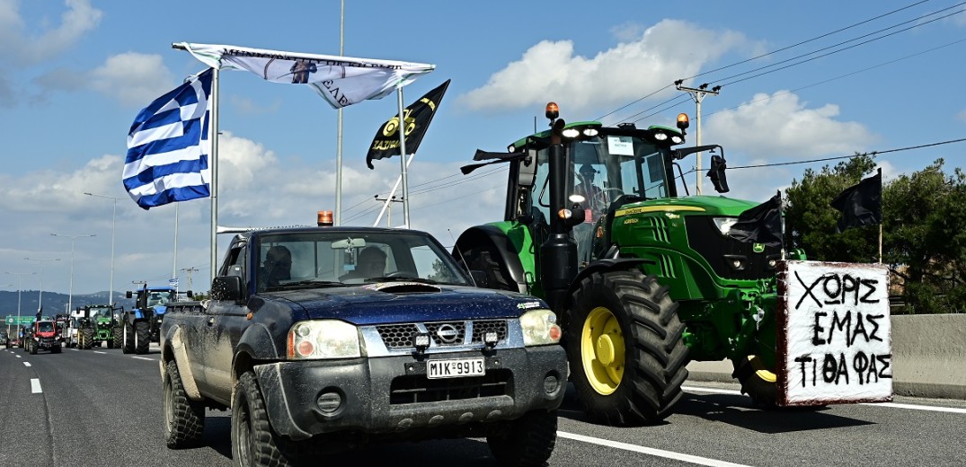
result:
<svg viewBox="0 0 966 467"><path fill-rule="evenodd" d="M780 405L892 400L885 266L782 261L778 326Z"/></svg>

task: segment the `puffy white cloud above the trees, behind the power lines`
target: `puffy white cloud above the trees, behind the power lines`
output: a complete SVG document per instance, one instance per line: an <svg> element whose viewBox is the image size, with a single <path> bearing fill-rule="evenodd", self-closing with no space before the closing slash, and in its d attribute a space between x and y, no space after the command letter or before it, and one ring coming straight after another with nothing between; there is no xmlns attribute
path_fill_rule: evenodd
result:
<svg viewBox="0 0 966 467"><path fill-rule="evenodd" d="M702 130L707 141L756 161L849 155L876 140L864 124L838 121L838 114L838 105L809 108L795 94L779 91L705 117Z"/></svg>

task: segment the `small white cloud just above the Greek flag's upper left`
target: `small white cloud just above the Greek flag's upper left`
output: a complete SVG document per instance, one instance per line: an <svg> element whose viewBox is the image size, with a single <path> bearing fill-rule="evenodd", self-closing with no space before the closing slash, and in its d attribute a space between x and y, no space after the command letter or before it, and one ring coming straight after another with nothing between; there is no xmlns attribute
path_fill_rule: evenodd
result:
<svg viewBox="0 0 966 467"><path fill-rule="evenodd" d="M160 55L135 52L108 57L88 74L90 87L125 105L143 107L171 91L176 83Z"/></svg>

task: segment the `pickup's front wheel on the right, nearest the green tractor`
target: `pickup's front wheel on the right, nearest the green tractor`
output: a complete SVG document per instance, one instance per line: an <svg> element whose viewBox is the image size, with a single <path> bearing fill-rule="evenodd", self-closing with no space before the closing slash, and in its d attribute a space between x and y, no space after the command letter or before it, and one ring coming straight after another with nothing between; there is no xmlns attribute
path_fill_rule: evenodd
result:
<svg viewBox="0 0 966 467"><path fill-rule="evenodd" d="M546 465L556 444L556 411L534 410L507 425L486 438L500 465Z"/></svg>

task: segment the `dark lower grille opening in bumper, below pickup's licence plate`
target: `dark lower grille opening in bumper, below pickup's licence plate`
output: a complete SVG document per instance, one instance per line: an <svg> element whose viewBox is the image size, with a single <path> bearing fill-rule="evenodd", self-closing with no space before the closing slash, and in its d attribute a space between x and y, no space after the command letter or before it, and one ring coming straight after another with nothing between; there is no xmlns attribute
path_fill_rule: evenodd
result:
<svg viewBox="0 0 966 467"><path fill-rule="evenodd" d="M440 402L468 398L511 396L509 370L488 370L485 376L466 378L429 379L425 375L399 376L389 388L389 403Z"/></svg>

